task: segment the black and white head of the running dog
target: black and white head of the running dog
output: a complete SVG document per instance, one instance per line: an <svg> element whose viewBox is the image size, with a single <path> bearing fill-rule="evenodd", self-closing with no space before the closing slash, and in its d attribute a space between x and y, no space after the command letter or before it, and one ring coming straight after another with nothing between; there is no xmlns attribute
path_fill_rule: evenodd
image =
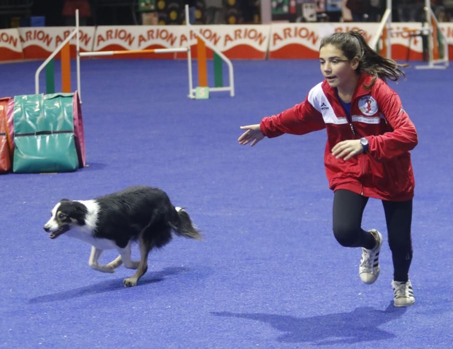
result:
<svg viewBox="0 0 453 349"><path fill-rule="evenodd" d="M87 209L83 203L62 199L53 207L50 219L44 224L44 230L54 239L73 226L84 225L86 213Z"/></svg>

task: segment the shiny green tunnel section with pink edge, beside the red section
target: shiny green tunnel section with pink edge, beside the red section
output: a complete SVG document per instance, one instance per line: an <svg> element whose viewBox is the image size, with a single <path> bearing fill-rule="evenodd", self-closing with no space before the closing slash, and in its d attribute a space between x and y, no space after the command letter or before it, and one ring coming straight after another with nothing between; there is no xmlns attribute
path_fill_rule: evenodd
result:
<svg viewBox="0 0 453 349"><path fill-rule="evenodd" d="M14 173L71 172L85 166L77 93L14 97Z"/></svg>

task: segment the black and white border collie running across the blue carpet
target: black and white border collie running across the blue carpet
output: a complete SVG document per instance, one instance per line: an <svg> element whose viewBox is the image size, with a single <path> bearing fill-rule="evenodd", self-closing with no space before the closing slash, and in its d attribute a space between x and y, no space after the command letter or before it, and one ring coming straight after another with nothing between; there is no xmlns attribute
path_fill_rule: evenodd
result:
<svg viewBox="0 0 453 349"><path fill-rule="evenodd" d="M88 264L95 270L113 273L121 263L136 269L134 275L123 280L126 287L137 285L148 269L148 253L170 242L171 231L201 240L187 212L173 206L164 191L148 186L129 187L93 200L62 199L53 207L44 230L51 239L64 234L89 243ZM131 260L132 241L138 242L140 261ZM118 250L119 256L107 265L98 264L106 249Z"/></svg>

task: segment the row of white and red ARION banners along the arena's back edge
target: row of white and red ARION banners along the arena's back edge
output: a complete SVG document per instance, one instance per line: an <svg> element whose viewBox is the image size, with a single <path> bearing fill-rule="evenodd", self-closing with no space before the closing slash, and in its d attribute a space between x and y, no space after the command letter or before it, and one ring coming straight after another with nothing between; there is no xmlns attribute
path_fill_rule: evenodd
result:
<svg viewBox="0 0 453 349"><path fill-rule="evenodd" d="M362 22L195 25L190 33L185 25L83 26L80 27L80 51L178 48L187 47L189 41L195 58L197 31L230 59L317 59L323 36L338 31L363 30L366 40L370 41L376 35L378 25ZM441 56L448 49L450 59L453 59L453 23L440 23L440 28L447 38L448 48L435 40L435 49ZM73 27L68 26L0 29L0 61L47 58L72 30ZM393 59L427 59L426 29L421 23L394 22L391 35ZM440 38L440 32L436 35ZM75 58L75 42L75 38L70 41L72 58ZM378 41L378 47L382 54L386 53L382 39ZM174 59L185 58L186 54L148 53L127 57ZM212 58L209 48L207 57Z"/></svg>

